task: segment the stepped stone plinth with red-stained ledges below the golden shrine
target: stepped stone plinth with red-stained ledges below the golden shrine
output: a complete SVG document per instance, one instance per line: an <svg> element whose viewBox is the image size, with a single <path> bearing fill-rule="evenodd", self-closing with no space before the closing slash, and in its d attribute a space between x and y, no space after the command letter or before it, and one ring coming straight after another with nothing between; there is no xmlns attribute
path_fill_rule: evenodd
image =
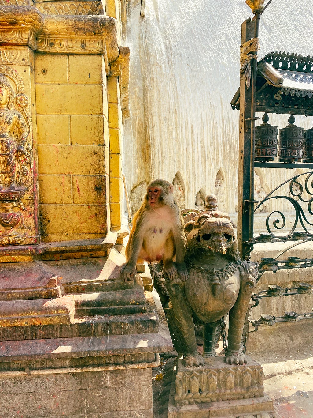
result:
<svg viewBox="0 0 313 418"><path fill-rule="evenodd" d="M149 269L144 266L142 278L127 282L119 276L124 236L117 232L102 242L49 243L40 250L9 247L7 254L1 248L5 396L0 408L5 417L94 418L96 412L152 418L151 368L159 364L159 352L172 350L172 340ZM51 382L64 380L53 386L53 396L48 376ZM30 401L34 397L35 403ZM38 411L39 404L44 408Z"/></svg>

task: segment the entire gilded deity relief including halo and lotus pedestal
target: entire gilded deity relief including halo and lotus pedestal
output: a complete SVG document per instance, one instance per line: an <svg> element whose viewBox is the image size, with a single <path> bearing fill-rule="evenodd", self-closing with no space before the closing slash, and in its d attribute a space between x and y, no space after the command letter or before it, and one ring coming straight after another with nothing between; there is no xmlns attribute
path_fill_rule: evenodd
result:
<svg viewBox="0 0 313 418"><path fill-rule="evenodd" d="M25 178L30 171L28 150L30 124L25 108L28 98L17 71L0 65L0 245L20 244L25 233L21 199L26 192Z"/></svg>

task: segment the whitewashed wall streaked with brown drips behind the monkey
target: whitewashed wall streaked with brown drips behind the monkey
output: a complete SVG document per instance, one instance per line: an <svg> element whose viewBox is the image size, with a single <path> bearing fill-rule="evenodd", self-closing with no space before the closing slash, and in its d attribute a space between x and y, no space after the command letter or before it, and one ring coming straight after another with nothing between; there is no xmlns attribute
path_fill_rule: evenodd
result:
<svg viewBox="0 0 313 418"><path fill-rule="evenodd" d="M241 23L249 16L244 0L146 0L144 17L140 1L131 3L131 118L124 148L129 192L141 181L172 181L179 171L186 206L193 207L199 189L215 191L220 170L220 209L235 212L239 112L230 100L239 87ZM313 55L312 17L312 0L273 0L260 23L259 58L273 50ZM295 124L308 129L312 119L296 116ZM270 115L270 123L285 127L288 115ZM293 171L259 173L271 190Z"/></svg>

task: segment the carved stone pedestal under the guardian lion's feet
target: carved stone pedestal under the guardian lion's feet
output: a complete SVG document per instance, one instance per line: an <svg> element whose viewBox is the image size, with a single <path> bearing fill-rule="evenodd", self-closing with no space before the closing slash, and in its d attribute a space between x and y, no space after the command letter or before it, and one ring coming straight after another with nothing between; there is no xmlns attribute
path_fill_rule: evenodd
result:
<svg viewBox="0 0 313 418"><path fill-rule="evenodd" d="M272 418L273 401L264 395L263 367L247 356L244 365L224 357L187 368L177 361L169 395L168 418Z"/></svg>

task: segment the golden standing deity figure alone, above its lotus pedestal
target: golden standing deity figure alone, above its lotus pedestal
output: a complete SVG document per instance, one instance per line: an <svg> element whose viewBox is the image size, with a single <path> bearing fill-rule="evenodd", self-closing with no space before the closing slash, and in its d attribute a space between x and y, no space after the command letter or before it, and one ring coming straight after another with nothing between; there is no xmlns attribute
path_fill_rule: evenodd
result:
<svg viewBox="0 0 313 418"><path fill-rule="evenodd" d="M27 97L19 94L16 103L24 107ZM0 190L15 190L28 173L30 155L25 150L29 128L21 112L14 109L15 94L4 74L0 74Z"/></svg>

